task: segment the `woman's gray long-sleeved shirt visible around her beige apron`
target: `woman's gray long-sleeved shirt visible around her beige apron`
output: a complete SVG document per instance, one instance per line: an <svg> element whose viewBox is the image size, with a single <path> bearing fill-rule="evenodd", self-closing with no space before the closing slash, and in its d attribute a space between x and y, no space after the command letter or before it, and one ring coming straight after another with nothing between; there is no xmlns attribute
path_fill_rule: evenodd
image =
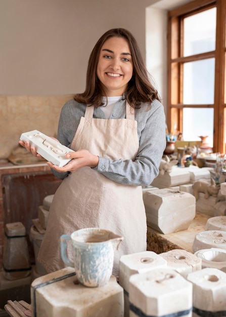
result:
<svg viewBox="0 0 226 317"><path fill-rule="evenodd" d="M110 119L125 118L125 106L126 101L123 98L116 102ZM61 110L58 140L69 148L78 128L80 117L84 116L85 108L85 104L71 99ZM94 109L94 118L106 119L101 108ZM135 109L135 120L138 122L139 140L139 150L135 160L111 160L100 156L99 164L94 170L121 184L147 186L158 176L158 168L166 146L163 105L158 100L154 100L151 107L144 103L141 104L140 109ZM118 141L120 142L120 140ZM68 172L52 171L61 179L68 175Z"/></svg>

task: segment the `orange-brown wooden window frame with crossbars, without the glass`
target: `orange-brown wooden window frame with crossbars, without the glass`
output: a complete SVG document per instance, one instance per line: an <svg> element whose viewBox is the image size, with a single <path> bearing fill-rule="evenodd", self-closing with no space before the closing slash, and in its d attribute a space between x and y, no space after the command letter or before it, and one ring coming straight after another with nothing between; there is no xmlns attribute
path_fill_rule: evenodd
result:
<svg viewBox="0 0 226 317"><path fill-rule="evenodd" d="M206 9L216 7L216 47L215 51L183 56L183 19ZM177 124L180 132L183 127L183 108L213 108L213 152L225 153L225 0L195 0L168 12L167 36L167 126L169 130ZM215 59L214 103L183 104L183 65L185 62L206 58Z"/></svg>

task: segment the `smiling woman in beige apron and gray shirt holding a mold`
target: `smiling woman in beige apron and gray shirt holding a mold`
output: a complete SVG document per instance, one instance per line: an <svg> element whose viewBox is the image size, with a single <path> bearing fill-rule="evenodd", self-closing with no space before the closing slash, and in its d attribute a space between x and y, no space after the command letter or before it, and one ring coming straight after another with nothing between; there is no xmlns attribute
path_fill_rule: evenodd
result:
<svg viewBox="0 0 226 317"><path fill-rule="evenodd" d="M130 32L107 31L88 62L86 88L62 108L58 140L75 150L64 167L48 165L63 179L54 195L38 255L47 272L63 268L61 234L86 227L109 229L124 240L120 256L146 251L142 185L158 175L165 149L165 115ZM28 142L20 142L37 155Z"/></svg>

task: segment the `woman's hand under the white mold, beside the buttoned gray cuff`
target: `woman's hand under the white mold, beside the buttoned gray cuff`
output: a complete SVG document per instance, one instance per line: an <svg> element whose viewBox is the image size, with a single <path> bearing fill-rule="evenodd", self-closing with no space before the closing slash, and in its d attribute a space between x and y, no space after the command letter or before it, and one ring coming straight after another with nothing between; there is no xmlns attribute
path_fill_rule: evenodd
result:
<svg viewBox="0 0 226 317"><path fill-rule="evenodd" d="M51 162L47 164L58 172L74 172L84 166L97 167L99 163L99 156L90 153L87 150L78 150L66 154L67 159L72 159L68 164L63 167L53 165Z"/></svg>

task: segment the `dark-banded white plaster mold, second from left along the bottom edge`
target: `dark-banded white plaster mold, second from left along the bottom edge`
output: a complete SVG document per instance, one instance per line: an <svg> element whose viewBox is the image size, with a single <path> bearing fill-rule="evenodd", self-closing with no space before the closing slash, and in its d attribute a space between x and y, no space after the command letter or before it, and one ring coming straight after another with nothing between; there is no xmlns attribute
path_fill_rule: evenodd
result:
<svg viewBox="0 0 226 317"><path fill-rule="evenodd" d="M133 274L129 279L129 317L192 316L192 283L170 268ZM135 313L139 311L140 314Z"/></svg>

